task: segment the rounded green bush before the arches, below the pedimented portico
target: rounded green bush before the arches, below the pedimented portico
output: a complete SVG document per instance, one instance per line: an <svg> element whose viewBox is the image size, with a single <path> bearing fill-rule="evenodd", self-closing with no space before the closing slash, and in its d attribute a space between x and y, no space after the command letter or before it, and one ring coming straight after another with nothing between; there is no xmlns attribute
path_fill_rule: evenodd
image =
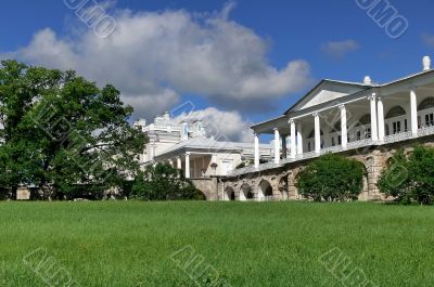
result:
<svg viewBox="0 0 434 287"><path fill-rule="evenodd" d="M299 194L315 201L357 200L363 187L363 165L340 155L327 154L299 172Z"/></svg>

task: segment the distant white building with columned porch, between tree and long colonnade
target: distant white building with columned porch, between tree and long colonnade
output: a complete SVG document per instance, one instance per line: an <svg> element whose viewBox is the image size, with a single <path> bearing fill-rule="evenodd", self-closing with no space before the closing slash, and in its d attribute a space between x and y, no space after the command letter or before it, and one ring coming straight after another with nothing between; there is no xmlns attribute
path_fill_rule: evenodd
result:
<svg viewBox="0 0 434 287"><path fill-rule="evenodd" d="M182 169L186 178L201 179L227 175L239 165L254 161L254 144L207 138L201 120L176 122L165 113L153 123L138 120L133 125L149 136L145 151L140 155L142 165L167 162ZM272 160L271 145L261 144L257 148L264 160Z"/></svg>

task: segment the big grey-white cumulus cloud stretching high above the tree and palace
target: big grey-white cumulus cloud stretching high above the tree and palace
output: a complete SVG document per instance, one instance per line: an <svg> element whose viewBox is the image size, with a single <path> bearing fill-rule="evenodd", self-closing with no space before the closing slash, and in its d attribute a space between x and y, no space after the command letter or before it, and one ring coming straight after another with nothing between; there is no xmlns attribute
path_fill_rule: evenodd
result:
<svg viewBox="0 0 434 287"><path fill-rule="evenodd" d="M267 41L229 19L234 5L207 14L115 10L116 29L107 38L92 29L59 36L46 28L8 55L113 83L141 117L170 109L182 94L229 109L272 108L273 100L310 82L309 64L270 65Z"/></svg>

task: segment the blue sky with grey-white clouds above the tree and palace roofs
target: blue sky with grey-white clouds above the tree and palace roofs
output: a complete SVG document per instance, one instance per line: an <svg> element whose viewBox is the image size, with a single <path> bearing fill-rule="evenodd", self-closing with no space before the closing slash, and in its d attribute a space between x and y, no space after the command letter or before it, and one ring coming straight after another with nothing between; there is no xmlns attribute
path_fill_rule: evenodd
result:
<svg viewBox="0 0 434 287"><path fill-rule="evenodd" d="M199 30L197 27L186 28L181 32L176 31L174 35L168 32L170 37L158 36L158 39L153 41L152 50L144 49L143 51L148 52L144 52L143 55L140 53L140 49L132 51L125 49L128 42L131 42L128 39L126 45L120 45L123 48L119 48L119 50L113 50L112 47L112 50L107 52L107 57L108 55L110 58L119 56L119 62L115 62L114 69L127 70L125 77L137 77L140 80L141 77L143 79L150 78L152 70L161 74L145 84L139 81L140 87L129 87L125 83L128 80L119 79L118 75L111 74L111 66L101 67L102 70L106 70L105 74L98 70L94 65L92 67L75 66L77 56L84 63L89 62L86 56L92 55L94 57L94 54L89 52L93 50L90 48L87 48L88 50L82 49L85 44L91 42L84 40L86 35L89 37L91 27L82 24L75 15L75 11L69 10L63 1L3 1L3 13L0 17L0 37L2 39L0 52L2 57L16 57L29 64L54 68L76 68L80 74L88 78L94 78L101 84L114 82L123 93L130 95L129 100L131 101L126 102L138 105L136 117L150 118L153 116L152 113L157 114L162 112L161 109L170 109L169 105L176 106L191 100L196 105L197 110L213 107L215 108L213 110L221 112L219 114L221 117L225 117L226 114L224 113L232 113L230 116L235 115L239 125L248 125L280 115L319 79L361 81L363 76L370 75L374 81L384 82L421 70L422 56L433 56L434 51L434 19L432 17L434 2L429 0L390 1L409 24L408 29L398 39L390 38L385 30L379 27L367 15L367 12L353 0L238 0L234 2L220 0L118 0L116 2L101 1L98 3L105 9L107 15L117 21L119 27L127 19L133 17L138 19L139 15L142 24L152 23L150 21L154 17L151 16L155 16L159 18L158 21L163 19L162 25L164 25L164 21L174 21L174 15L167 14L174 12L181 13L175 15L190 17L187 24L184 19L175 17L175 21L179 19L179 23L186 25L184 28L194 24L202 30ZM225 14L225 9L228 11L227 14ZM220 21L221 25L216 24L218 28L209 28L207 22L216 18ZM210 26L213 25L210 24ZM143 26L143 29L146 29L146 27ZM136 38L141 37L140 31L141 29L138 29ZM186 31L189 34L188 37L182 35ZM184 41L189 41L191 34L194 32L197 32L197 35L191 37L193 43L189 45ZM221 45L221 42L216 40L216 35L221 34L225 35L224 39L253 37L253 44L248 44L248 40L247 42L234 42L232 47L229 44L231 41L227 40L228 47ZM38 41L35 41L35 35L39 35ZM149 34L146 35L149 36ZM135 39L132 44L139 43L145 48L148 36L143 36L142 41L139 42L136 42L137 39ZM127 37L118 36L118 39L124 38ZM197 62L202 61L203 64L196 63L192 67L186 67L184 63L179 64L186 67L184 69L171 63L178 61L176 56L171 60L159 60L154 63L153 60L156 55L149 51L159 50L158 47L164 48L162 51L166 51L166 48L173 45L173 42L176 41L182 41L182 47L187 47L187 50L197 47L197 42L212 41L212 51L202 55L202 57L197 57ZM48 48L43 47L41 42L47 42ZM103 40L99 43L104 44ZM50 51L48 50L50 47L56 49L52 48ZM66 53L64 51L69 51L71 54L62 56L62 53ZM130 54L124 55L124 52ZM51 54L55 55L51 56ZM101 54L104 54L104 52L101 52ZM243 60L245 63L243 62L241 66L225 63L225 65L218 67L219 73L213 74L213 68L220 65L225 58L237 62L244 55L247 60ZM143 57L143 65L152 63L152 69L149 67L144 71L140 67L128 69L128 65L131 64L128 61L138 57ZM208 63L206 57L215 57L218 61ZM248 57L253 60L251 61ZM64 58L71 61L67 62ZM182 55L182 58L188 58L189 62L195 61L189 54ZM104 57L101 58L101 62L105 63L106 61ZM303 61L303 63L296 62L297 66L285 74L286 65L294 61ZM135 62L137 61L132 60L132 63ZM125 63L125 67L119 67L119 63L120 65ZM191 69L197 70L197 66L205 67L204 71L197 73L202 74L200 76L207 75L206 71L210 70L209 78L220 80L217 81L216 86L233 87L227 90L224 87L213 87L213 80L207 81L207 79L197 75L194 77L187 75L182 78L179 78L179 75L171 75L171 70L174 73L178 70L178 74L179 70L181 70L181 74L189 74ZM248 70L250 67L252 67L252 70ZM233 74L228 73L228 78L225 78L225 75L221 75L222 68L228 70L233 68L234 71ZM267 94L267 86L277 80L283 81L285 77L288 77L288 81L295 81L291 75L303 68L308 68L308 71L304 70L302 75L298 75L299 78L296 83L293 86L282 84L282 88ZM272 71L273 69L276 73ZM128 73L131 73L131 75ZM138 75L132 75L132 73ZM263 86L257 88L258 91L265 90L264 96L260 95L260 92L252 91L256 87L256 73L258 75L268 73L268 80L265 80L261 83ZM151 76L154 77L154 75ZM240 87L234 82L235 79L239 79L238 81L242 83ZM254 82L253 88L252 82ZM135 81L131 80L130 86L133 84ZM136 83L136 86L138 84ZM248 87L248 89L245 90L245 87ZM239 96L238 92L242 96ZM161 99L156 101L159 103L155 104L151 101L152 96ZM140 99L143 99L143 101ZM228 131L228 133L233 138L233 131Z"/></svg>

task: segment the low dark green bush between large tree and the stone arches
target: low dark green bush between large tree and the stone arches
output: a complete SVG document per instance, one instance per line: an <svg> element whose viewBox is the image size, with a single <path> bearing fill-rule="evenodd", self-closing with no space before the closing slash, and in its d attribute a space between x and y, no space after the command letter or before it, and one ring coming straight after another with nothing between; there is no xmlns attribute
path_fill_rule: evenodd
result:
<svg viewBox="0 0 434 287"><path fill-rule="evenodd" d="M181 170L164 164L148 166L140 172L132 184L131 196L145 200L205 199Z"/></svg>

